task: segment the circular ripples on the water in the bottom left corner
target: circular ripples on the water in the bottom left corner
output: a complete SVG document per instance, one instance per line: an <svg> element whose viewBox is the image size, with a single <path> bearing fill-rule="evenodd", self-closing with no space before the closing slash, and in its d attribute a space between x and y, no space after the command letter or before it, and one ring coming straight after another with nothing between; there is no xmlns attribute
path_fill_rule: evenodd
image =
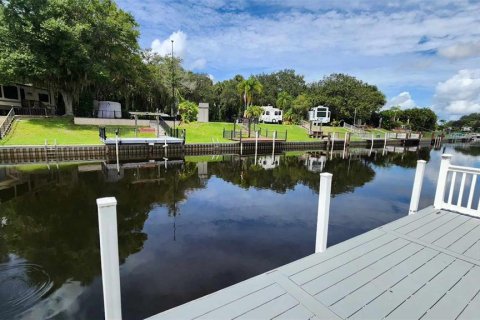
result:
<svg viewBox="0 0 480 320"><path fill-rule="evenodd" d="M15 260L0 264L0 319L15 318L34 306L52 288L45 270Z"/></svg>

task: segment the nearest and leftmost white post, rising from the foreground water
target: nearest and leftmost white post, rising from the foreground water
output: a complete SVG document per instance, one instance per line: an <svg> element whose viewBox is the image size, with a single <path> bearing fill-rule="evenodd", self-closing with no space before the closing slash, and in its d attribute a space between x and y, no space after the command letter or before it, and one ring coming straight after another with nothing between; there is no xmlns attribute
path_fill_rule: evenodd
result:
<svg viewBox="0 0 480 320"><path fill-rule="evenodd" d="M118 258L117 200L97 199L105 319L122 319Z"/></svg>

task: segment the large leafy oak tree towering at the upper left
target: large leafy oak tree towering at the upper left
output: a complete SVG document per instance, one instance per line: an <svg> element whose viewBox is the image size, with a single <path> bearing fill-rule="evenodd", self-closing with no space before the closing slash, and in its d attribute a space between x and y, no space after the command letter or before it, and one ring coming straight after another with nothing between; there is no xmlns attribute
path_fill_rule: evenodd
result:
<svg viewBox="0 0 480 320"><path fill-rule="evenodd" d="M137 27L109 0L0 0L0 82L51 88L73 114L83 88L127 77Z"/></svg>

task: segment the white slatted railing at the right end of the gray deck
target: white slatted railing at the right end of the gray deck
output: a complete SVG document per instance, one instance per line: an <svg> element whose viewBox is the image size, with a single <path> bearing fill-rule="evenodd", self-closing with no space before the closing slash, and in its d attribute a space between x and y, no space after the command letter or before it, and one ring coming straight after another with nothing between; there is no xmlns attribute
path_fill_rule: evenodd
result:
<svg viewBox="0 0 480 320"><path fill-rule="evenodd" d="M450 154L442 155L433 206L480 217L480 196L475 189L480 169L452 165L451 158ZM456 183L457 179L460 184Z"/></svg>

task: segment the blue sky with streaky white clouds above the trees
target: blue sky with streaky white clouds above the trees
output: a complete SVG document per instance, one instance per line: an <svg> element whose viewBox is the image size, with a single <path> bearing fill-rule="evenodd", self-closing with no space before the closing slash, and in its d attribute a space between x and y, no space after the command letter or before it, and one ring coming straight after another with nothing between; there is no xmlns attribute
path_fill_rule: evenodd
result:
<svg viewBox="0 0 480 320"><path fill-rule="evenodd" d="M387 107L445 119L480 112L480 2L119 0L143 48L216 81L293 68L307 81L343 72L377 85Z"/></svg>

